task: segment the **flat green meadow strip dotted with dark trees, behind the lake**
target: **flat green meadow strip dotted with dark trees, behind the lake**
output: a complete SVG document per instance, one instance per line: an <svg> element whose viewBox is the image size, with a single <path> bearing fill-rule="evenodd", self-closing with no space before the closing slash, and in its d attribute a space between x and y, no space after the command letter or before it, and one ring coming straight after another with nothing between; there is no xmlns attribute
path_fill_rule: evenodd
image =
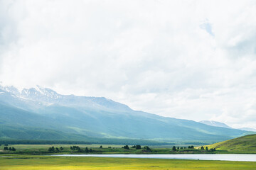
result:
<svg viewBox="0 0 256 170"><path fill-rule="evenodd" d="M144 149L142 145L141 149L132 148L132 145L129 145L129 149L124 149L124 145L75 145L79 146L82 149L82 152L79 152L78 149L70 149L73 145L9 145L7 147L14 147L16 151L5 150L4 145L0 146L0 156L5 154L85 154L85 148L92 149L92 152L87 154L205 154L213 153L206 152L201 149L177 149L174 151L172 149L173 145L170 145L168 148L159 148L154 146L149 146L150 150ZM102 148L100 148L102 146ZM50 147L58 148L57 152L49 152ZM63 150L60 150L60 147Z"/></svg>

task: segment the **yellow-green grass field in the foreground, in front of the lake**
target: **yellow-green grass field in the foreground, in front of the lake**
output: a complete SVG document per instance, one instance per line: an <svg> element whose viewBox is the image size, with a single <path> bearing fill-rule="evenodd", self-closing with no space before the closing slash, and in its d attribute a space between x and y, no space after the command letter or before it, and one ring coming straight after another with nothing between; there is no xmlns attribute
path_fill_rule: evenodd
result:
<svg viewBox="0 0 256 170"><path fill-rule="evenodd" d="M176 169L176 170L230 170L256 169L256 162L226 162L178 159L137 159L137 158L102 158L102 157L50 157L50 156L15 156L0 157L0 169Z"/></svg>

